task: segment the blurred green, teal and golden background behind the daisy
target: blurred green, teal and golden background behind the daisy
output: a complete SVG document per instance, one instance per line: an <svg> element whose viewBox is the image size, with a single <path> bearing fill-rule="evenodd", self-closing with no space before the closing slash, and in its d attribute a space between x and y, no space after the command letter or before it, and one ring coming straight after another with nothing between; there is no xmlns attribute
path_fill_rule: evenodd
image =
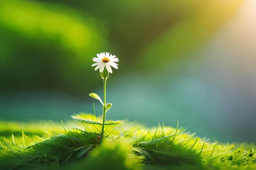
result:
<svg viewBox="0 0 256 170"><path fill-rule="evenodd" d="M0 119L70 119L103 93L107 118L256 142L256 1L0 1Z"/></svg>

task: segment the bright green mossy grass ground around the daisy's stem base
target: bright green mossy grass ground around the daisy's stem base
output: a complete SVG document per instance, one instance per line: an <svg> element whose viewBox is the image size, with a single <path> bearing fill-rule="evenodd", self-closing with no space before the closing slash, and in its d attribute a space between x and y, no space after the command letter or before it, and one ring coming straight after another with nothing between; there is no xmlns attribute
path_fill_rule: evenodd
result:
<svg viewBox="0 0 256 170"><path fill-rule="evenodd" d="M178 124L148 128L111 120L100 143L101 125L88 122L101 122L101 117L81 113L73 118L64 124L0 121L0 169L256 169L254 145L209 142Z"/></svg>

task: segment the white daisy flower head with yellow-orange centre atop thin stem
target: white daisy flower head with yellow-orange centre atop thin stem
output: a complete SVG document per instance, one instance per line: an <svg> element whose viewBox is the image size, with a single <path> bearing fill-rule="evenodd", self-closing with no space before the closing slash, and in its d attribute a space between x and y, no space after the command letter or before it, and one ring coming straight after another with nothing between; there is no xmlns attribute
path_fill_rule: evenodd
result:
<svg viewBox="0 0 256 170"><path fill-rule="evenodd" d="M118 64L116 63L119 62L118 58L115 55L109 55L109 53L97 54L97 57L94 57L92 61L96 62L92 64L92 66L96 66L94 70L96 71L99 69L101 73L103 72L105 66L109 73L112 73L112 69L110 66L118 69Z"/></svg>

